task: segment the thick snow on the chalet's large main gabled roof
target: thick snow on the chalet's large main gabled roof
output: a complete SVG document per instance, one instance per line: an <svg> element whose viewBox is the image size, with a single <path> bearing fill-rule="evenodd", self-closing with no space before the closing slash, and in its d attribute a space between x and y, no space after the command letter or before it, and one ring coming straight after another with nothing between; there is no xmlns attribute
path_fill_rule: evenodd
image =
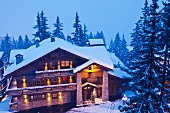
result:
<svg viewBox="0 0 170 113"><path fill-rule="evenodd" d="M48 38L40 42L40 46L37 48L33 45L26 50L12 50L9 61L10 63L13 62L13 64L7 67L4 75L10 74L58 48L69 51L70 53L81 56L87 60L92 60L109 69L113 69L109 53L104 46L79 47L59 38L56 38L54 42L51 42L51 39ZM15 56L17 54L23 55L23 61L16 65Z"/></svg>

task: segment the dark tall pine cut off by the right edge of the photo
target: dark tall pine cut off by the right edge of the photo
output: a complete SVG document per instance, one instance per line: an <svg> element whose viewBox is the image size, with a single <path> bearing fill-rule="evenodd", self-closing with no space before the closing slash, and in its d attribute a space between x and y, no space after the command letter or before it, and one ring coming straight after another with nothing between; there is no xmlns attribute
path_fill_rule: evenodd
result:
<svg viewBox="0 0 170 113"><path fill-rule="evenodd" d="M166 1L163 3L164 7L161 12L161 22L162 27L160 30L160 39L159 39L159 46L160 51L157 53L159 56L158 63L160 64L161 68L161 99L160 99L160 111L164 112L164 109L168 109L167 100L170 97L170 90L167 88L170 84L170 1ZM168 61L169 60L169 61ZM161 63L160 63L161 61ZM165 106L165 107L164 107ZM169 107L170 112L170 107Z"/></svg>

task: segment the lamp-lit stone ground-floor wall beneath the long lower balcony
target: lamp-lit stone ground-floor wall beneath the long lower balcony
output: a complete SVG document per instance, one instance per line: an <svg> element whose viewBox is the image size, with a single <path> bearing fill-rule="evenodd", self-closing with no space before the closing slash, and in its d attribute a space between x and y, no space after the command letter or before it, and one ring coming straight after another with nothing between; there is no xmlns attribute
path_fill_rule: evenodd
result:
<svg viewBox="0 0 170 113"><path fill-rule="evenodd" d="M58 98L52 98L52 95L49 95L46 99L39 100L29 100L24 99L23 96L18 98L18 111L42 107L42 106L51 106L58 104L65 104L71 102L71 93L70 92L61 92L58 94Z"/></svg>

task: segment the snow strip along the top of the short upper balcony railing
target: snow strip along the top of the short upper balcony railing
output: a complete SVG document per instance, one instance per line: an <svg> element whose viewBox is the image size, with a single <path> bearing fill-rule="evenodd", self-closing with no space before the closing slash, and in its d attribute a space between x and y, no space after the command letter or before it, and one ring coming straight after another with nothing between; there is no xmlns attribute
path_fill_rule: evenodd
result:
<svg viewBox="0 0 170 113"><path fill-rule="evenodd" d="M35 71L35 73L54 73L54 72L65 72L65 71L72 71L74 68L69 69L55 69L55 70L44 70L44 71Z"/></svg>

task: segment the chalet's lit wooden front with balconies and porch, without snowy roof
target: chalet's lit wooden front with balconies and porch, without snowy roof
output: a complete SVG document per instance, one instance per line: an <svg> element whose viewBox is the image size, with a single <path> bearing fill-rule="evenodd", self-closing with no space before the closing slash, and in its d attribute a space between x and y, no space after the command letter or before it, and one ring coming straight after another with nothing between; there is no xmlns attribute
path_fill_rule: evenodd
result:
<svg viewBox="0 0 170 113"><path fill-rule="evenodd" d="M121 79L115 79L107 73L111 69L97 63L74 72L87 61L58 48L9 73L6 76L10 77L7 87L7 94L12 96L10 109L21 111L71 102L81 105L95 98L108 101L118 93Z"/></svg>

